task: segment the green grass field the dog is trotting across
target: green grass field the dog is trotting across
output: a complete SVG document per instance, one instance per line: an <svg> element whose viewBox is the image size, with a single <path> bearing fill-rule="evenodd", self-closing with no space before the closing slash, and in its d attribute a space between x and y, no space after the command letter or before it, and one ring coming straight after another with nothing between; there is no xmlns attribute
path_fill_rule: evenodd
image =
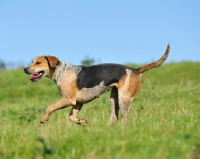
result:
<svg viewBox="0 0 200 159"><path fill-rule="evenodd" d="M23 70L0 71L2 159L197 159L200 158L200 63L169 63L142 75L129 123L107 126L109 92L69 121L71 108L54 112L61 97L53 81L29 81Z"/></svg>

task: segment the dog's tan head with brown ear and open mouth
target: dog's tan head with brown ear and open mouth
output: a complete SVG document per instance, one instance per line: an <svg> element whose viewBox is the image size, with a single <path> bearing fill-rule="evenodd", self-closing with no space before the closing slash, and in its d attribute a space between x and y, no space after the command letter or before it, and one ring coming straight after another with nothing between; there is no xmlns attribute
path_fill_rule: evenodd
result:
<svg viewBox="0 0 200 159"><path fill-rule="evenodd" d="M55 56L38 56L29 67L24 69L24 72L31 75L32 82L36 82L42 77L51 77L58 62Z"/></svg>

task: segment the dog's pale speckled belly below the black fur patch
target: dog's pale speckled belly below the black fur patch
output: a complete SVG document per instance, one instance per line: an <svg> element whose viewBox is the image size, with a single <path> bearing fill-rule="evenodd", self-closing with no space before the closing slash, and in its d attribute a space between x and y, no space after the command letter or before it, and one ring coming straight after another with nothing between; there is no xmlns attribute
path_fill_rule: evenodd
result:
<svg viewBox="0 0 200 159"><path fill-rule="evenodd" d="M87 103L95 98L98 98L107 89L108 87L104 85L104 82L101 82L99 85L92 88L82 88L77 93L76 101L78 103Z"/></svg>

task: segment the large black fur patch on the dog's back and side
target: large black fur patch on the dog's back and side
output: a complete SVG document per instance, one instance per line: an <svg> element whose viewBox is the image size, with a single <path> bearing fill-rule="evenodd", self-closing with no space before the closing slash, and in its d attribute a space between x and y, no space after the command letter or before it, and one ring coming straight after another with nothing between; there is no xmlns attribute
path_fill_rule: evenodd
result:
<svg viewBox="0 0 200 159"><path fill-rule="evenodd" d="M82 66L78 74L78 88L92 88L104 81L105 86L118 82L119 79L126 74L128 66L119 64L99 64L92 66Z"/></svg>

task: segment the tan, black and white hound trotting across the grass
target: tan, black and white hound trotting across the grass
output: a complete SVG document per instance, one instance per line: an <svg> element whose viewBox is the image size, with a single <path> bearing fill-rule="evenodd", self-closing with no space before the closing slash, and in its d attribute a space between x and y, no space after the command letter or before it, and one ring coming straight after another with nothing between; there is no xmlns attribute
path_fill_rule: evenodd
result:
<svg viewBox="0 0 200 159"><path fill-rule="evenodd" d="M45 123L52 112L72 106L69 119L86 126L87 120L78 118L83 104L88 103L111 88L111 115L108 124L118 120L120 110L122 121L128 122L128 111L141 87L143 72L160 66L168 57L170 45L164 55L157 61L132 68L120 64L98 64L91 66L74 66L60 61L55 56L38 56L29 67L24 69L30 80L36 82L42 77L49 77L56 83L62 99L50 105L40 123Z"/></svg>

